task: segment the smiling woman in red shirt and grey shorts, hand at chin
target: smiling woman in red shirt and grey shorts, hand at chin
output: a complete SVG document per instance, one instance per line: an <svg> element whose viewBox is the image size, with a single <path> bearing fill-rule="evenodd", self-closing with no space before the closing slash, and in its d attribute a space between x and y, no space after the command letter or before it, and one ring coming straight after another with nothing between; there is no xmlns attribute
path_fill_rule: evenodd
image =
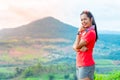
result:
<svg viewBox="0 0 120 80"><path fill-rule="evenodd" d="M76 72L78 80L94 80L95 62L93 48L98 39L97 26L89 11L80 14L81 27L78 29L73 49L76 51Z"/></svg>

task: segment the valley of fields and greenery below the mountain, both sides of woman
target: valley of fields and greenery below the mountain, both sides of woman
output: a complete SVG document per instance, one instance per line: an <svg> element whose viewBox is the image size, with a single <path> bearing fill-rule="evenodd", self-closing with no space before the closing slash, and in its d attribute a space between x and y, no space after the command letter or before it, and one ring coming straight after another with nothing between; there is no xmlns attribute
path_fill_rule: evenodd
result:
<svg viewBox="0 0 120 80"><path fill-rule="evenodd" d="M98 43L95 80L120 80L119 47ZM0 63L0 80L76 80L75 53L66 39L1 40Z"/></svg>

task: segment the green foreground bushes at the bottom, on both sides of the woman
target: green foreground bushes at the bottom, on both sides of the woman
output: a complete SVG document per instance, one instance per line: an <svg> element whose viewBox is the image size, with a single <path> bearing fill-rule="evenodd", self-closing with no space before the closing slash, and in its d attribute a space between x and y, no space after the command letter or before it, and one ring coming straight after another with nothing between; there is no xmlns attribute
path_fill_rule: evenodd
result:
<svg viewBox="0 0 120 80"><path fill-rule="evenodd" d="M95 73L95 80L120 80L120 71ZM42 66L37 64L23 70L18 80L76 80L75 66L66 63Z"/></svg>

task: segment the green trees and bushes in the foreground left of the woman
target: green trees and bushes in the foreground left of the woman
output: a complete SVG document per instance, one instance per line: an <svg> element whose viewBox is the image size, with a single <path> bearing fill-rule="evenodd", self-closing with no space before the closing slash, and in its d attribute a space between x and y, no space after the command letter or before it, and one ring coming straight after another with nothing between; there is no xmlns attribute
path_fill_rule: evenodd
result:
<svg viewBox="0 0 120 80"><path fill-rule="evenodd" d="M36 64L24 69L16 69L17 80L74 80L75 64L61 63L52 65Z"/></svg>

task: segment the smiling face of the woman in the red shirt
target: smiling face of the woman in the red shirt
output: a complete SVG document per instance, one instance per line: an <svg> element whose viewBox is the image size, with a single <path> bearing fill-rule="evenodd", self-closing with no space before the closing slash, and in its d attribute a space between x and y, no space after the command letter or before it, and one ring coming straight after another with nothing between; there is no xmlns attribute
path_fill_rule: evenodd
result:
<svg viewBox="0 0 120 80"><path fill-rule="evenodd" d="M81 24L84 28L88 28L92 26L92 19L90 19L86 14L82 14L80 18L81 18Z"/></svg>

